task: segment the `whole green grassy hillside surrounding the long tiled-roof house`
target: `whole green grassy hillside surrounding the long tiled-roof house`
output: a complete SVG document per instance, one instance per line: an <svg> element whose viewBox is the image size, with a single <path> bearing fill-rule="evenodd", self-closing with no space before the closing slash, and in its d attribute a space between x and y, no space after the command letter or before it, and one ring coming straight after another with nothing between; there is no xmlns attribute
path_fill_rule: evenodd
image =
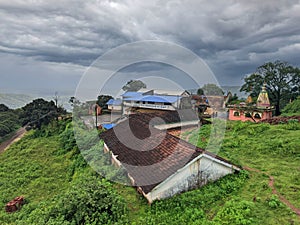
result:
<svg viewBox="0 0 300 225"><path fill-rule="evenodd" d="M209 133L205 125L186 135L204 147ZM151 206L134 188L95 174L72 135L71 124L51 124L0 155L0 224L300 224L263 173L272 175L278 193L300 208L299 123L229 122L219 154L262 172L229 175ZM18 195L27 203L6 214L5 203Z"/></svg>

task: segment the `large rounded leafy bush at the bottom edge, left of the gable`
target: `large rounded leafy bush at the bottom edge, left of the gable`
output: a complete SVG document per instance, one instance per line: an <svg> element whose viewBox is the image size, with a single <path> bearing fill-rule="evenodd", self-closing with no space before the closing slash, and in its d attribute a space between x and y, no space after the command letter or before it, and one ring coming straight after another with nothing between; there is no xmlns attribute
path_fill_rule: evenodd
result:
<svg viewBox="0 0 300 225"><path fill-rule="evenodd" d="M111 184L92 176L77 180L59 197L50 215L53 220L63 218L70 224L113 224L125 212L124 201Z"/></svg>

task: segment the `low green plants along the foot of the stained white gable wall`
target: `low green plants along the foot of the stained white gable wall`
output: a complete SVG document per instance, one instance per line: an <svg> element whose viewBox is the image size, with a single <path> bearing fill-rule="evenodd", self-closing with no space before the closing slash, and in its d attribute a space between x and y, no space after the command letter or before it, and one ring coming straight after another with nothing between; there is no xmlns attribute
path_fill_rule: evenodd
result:
<svg viewBox="0 0 300 225"><path fill-rule="evenodd" d="M137 224L215 224L215 219L211 221L207 213L216 202L218 204L224 202L229 195L239 191L247 179L248 173L241 171L239 174L228 175L200 189L156 201ZM223 214L227 216L226 213ZM222 220L223 214L217 218ZM245 218L248 216L246 213L243 215Z"/></svg>

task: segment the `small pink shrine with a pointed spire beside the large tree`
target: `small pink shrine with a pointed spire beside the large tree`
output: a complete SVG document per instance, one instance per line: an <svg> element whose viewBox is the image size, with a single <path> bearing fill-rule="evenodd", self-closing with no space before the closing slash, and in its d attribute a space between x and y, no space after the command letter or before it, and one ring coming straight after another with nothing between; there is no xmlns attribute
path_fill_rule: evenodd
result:
<svg viewBox="0 0 300 225"><path fill-rule="evenodd" d="M228 110L229 120L259 122L260 120L272 118L274 107L270 104L266 84L264 83L256 104L249 96L246 102L241 102L239 105L229 105Z"/></svg>

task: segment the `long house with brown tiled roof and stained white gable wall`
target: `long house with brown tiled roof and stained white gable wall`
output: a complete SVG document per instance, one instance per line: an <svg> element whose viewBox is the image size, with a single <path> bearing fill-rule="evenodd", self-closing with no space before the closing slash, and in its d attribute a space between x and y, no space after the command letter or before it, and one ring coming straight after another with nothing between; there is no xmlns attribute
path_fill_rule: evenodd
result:
<svg viewBox="0 0 300 225"><path fill-rule="evenodd" d="M155 128L163 121L175 124L183 119L173 114L132 114L100 136L104 150L111 153L115 164L125 168L149 203L239 170L225 159Z"/></svg>

